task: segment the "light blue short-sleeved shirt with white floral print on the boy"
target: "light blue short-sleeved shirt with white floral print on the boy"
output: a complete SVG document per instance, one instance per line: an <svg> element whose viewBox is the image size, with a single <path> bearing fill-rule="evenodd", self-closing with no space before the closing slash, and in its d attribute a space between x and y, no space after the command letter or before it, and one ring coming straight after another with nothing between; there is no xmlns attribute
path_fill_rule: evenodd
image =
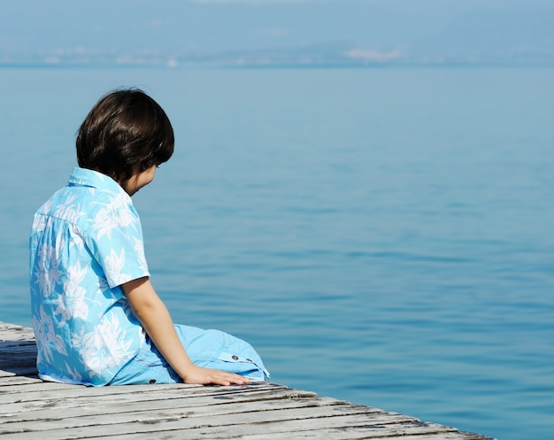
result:
<svg viewBox="0 0 554 440"><path fill-rule="evenodd" d="M39 376L110 382L144 344L120 288L149 275L131 197L110 177L75 168L35 213L29 242Z"/></svg>

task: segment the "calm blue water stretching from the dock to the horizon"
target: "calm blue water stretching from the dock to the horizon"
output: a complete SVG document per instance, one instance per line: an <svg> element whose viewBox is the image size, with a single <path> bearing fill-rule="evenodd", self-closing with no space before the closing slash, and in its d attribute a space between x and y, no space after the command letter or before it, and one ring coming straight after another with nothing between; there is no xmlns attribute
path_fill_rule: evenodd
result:
<svg viewBox="0 0 554 440"><path fill-rule="evenodd" d="M178 322L273 381L505 440L554 438L553 69L0 70L0 320L96 99L177 150L135 196Z"/></svg>

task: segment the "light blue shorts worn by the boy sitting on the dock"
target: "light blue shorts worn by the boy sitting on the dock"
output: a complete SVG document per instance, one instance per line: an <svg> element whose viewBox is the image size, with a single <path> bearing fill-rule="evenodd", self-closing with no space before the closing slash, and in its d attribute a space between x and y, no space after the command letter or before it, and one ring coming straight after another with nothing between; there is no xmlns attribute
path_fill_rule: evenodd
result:
<svg viewBox="0 0 554 440"><path fill-rule="evenodd" d="M253 381L269 379L262 359L242 339L219 330L175 325L189 358L199 367L241 374ZM182 382L179 374L165 361L156 346L146 338L141 351L113 377L110 385Z"/></svg>

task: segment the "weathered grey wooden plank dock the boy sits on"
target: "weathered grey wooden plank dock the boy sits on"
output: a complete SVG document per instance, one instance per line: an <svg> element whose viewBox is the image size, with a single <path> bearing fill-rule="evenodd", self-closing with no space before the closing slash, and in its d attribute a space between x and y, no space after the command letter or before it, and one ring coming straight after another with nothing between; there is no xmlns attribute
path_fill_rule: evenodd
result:
<svg viewBox="0 0 554 440"><path fill-rule="evenodd" d="M35 356L31 328L0 322L3 440L492 440L270 382L100 388L42 382Z"/></svg>

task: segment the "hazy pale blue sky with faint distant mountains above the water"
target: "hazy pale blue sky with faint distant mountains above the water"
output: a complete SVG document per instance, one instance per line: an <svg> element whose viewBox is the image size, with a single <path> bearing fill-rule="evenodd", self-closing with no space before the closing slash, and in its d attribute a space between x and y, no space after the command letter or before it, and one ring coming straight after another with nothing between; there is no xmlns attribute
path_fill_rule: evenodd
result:
<svg viewBox="0 0 554 440"><path fill-rule="evenodd" d="M550 59L552 29L552 0L0 0L0 64L252 51Z"/></svg>

